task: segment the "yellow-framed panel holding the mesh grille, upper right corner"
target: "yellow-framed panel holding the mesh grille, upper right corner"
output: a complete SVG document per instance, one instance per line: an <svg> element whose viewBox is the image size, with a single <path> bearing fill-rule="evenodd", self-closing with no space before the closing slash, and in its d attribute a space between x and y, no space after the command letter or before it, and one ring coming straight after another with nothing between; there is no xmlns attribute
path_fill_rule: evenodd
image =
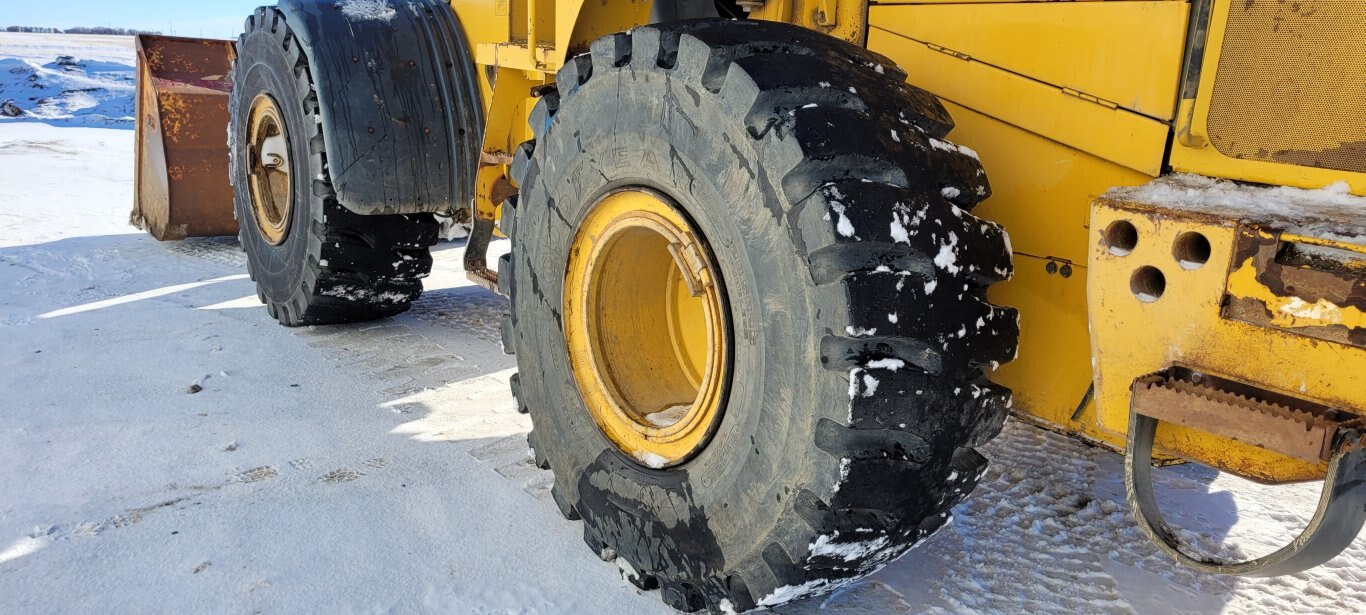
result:
<svg viewBox="0 0 1366 615"><path fill-rule="evenodd" d="M1350 146L1341 141L1361 134L1366 100L1366 81L1346 77L1366 71L1361 5L1298 7L1213 0L1199 82L1179 102L1169 159L1175 171L1303 189L1347 182L1354 194L1366 195L1359 168L1284 160L1291 149L1326 159L1326 152Z"/></svg>

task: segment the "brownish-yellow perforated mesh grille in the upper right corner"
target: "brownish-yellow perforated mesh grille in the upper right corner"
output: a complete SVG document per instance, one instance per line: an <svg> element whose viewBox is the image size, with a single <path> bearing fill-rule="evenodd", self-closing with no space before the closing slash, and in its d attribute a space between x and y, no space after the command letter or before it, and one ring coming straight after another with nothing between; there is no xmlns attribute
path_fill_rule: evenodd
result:
<svg viewBox="0 0 1366 615"><path fill-rule="evenodd" d="M1209 139L1235 159L1366 172L1366 3L1232 0Z"/></svg>

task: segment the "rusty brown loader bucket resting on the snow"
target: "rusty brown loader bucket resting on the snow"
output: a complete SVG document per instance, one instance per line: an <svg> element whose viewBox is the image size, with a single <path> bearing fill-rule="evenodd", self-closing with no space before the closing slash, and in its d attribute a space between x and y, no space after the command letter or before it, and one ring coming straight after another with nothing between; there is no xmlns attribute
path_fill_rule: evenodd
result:
<svg viewBox="0 0 1366 615"><path fill-rule="evenodd" d="M138 36L130 221L157 239L238 232L227 139L235 57L232 41Z"/></svg>

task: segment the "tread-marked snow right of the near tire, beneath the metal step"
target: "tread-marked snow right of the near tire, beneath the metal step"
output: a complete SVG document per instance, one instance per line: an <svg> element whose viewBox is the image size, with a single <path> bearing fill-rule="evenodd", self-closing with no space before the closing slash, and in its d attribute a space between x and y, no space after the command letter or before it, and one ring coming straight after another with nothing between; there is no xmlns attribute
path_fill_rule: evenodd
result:
<svg viewBox="0 0 1366 615"><path fill-rule="evenodd" d="M922 548L855 585L881 582L914 612L1361 612L1366 575L1358 538L1307 573L1229 578L1190 571L1147 543L1124 500L1123 456L1011 420L984 447L982 482L953 523ZM1262 487L1198 466L1156 473L1168 518L1206 554L1246 559L1290 541L1309 521L1287 511L1313 506L1318 487ZM1229 537L1223 529L1233 525ZM1208 530L1198 533L1194 530ZM852 588L851 588L852 589ZM873 593L872 596L882 596ZM882 596L867 611L903 612ZM783 608L783 614L851 607L852 594ZM888 599L888 600L884 600ZM840 612L840 611L836 611Z"/></svg>

